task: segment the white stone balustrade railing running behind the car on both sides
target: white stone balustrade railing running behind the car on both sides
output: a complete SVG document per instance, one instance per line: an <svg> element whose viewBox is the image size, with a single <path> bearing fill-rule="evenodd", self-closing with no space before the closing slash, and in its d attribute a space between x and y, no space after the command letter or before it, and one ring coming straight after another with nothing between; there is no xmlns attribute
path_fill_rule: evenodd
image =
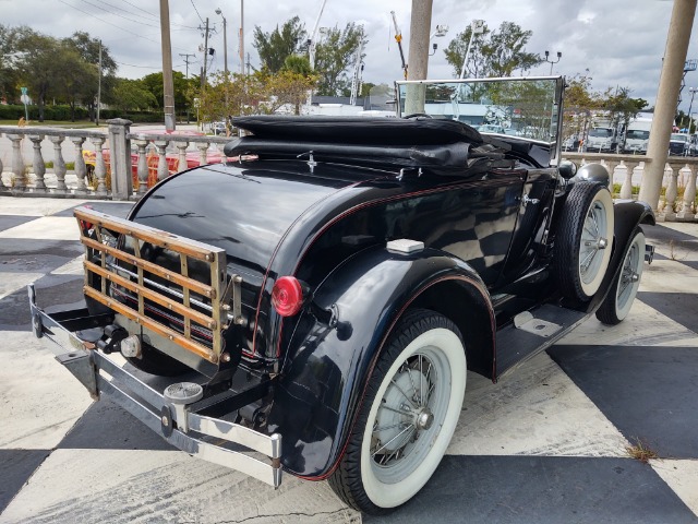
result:
<svg viewBox="0 0 698 524"><path fill-rule="evenodd" d="M106 133L48 127L0 127L0 194L137 200L149 186L173 172L224 162L222 146L230 140L131 133L129 120L113 119L107 123ZM642 155L589 152L566 152L563 158L580 166L589 163L606 166L612 182L619 184L616 196L621 199L634 198L645 166L651 162ZM69 163L72 164L70 170ZM9 171L3 172L8 168ZM659 219L698 222L697 174L698 158L669 157Z"/></svg>

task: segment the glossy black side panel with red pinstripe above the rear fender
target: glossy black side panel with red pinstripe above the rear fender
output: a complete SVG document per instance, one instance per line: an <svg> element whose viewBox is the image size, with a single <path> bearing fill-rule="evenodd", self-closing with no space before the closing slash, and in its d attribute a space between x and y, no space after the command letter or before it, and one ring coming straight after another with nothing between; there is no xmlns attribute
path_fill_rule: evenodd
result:
<svg viewBox="0 0 698 524"><path fill-rule="evenodd" d="M327 205L309 210L289 231L269 275L293 274L314 289L358 251L409 238L466 261L493 287L512 240L522 183L520 170L493 170L474 179L411 176L402 181L366 182L371 189L366 184L348 188L347 193L361 192L363 201L338 202L329 215ZM267 300L272 285L269 278ZM278 320L272 313L269 325ZM269 357L281 355L288 344L288 326L284 340L278 332L266 332L266 347L276 349L267 353Z"/></svg>

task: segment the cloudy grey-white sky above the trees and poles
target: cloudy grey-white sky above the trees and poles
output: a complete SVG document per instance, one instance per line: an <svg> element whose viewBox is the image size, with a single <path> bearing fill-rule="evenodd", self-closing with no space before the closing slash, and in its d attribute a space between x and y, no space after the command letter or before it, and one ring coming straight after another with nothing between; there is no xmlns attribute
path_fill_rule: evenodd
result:
<svg viewBox="0 0 698 524"><path fill-rule="evenodd" d="M676 0L683 1L683 0ZM228 21L229 69L239 70L238 32L241 0L169 0L174 69L184 72L180 53L194 53L190 72L198 71L203 53L203 32L198 28L206 17L215 28L209 47L216 49L209 70L224 68L222 20ZM258 59L252 46L255 26L273 31L291 16L299 15L311 31L322 0L248 0L244 2L245 53L253 66ZM377 7L380 5L380 7ZM594 90L629 87L631 96L654 104L666 33L673 7L672 0L434 0L432 27L449 26L448 34L435 38L438 50L430 58L429 78L452 78L443 49L476 19L490 28L504 21L533 32L527 50L555 57L555 74L587 74ZM348 22L363 24L369 37L365 49L363 80L390 83L401 78L400 58L394 39L390 11L395 11L409 48L411 0L327 0L320 26L344 27ZM0 23L10 26L29 25L35 31L56 37L86 31L103 39L119 63L119 75L141 78L161 70L158 25L158 0L0 0ZM688 58L698 58L698 33L694 36ZM543 63L532 74L549 74ZM698 87L698 71L686 75L684 103L688 108L688 87Z"/></svg>

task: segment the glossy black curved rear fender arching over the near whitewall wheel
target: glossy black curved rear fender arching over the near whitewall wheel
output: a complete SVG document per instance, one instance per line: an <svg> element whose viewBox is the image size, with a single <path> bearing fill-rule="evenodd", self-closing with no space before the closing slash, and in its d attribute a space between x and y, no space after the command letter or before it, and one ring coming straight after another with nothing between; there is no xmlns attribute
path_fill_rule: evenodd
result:
<svg viewBox="0 0 698 524"><path fill-rule="evenodd" d="M495 318L478 274L433 249L410 254L365 249L317 287L290 338L269 414L269 427L284 434L287 471L311 479L332 473L377 355L412 307L452 318L469 367L492 377Z"/></svg>

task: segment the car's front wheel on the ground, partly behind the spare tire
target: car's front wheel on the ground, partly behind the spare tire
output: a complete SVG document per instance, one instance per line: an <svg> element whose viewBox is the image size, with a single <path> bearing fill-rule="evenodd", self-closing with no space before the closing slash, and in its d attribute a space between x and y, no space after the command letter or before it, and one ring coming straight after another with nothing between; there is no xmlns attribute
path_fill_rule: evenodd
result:
<svg viewBox="0 0 698 524"><path fill-rule="evenodd" d="M613 279L609 295L597 310L597 319L604 324L615 325L628 315L640 287L643 262L645 234L638 227L623 259L621 273Z"/></svg>

